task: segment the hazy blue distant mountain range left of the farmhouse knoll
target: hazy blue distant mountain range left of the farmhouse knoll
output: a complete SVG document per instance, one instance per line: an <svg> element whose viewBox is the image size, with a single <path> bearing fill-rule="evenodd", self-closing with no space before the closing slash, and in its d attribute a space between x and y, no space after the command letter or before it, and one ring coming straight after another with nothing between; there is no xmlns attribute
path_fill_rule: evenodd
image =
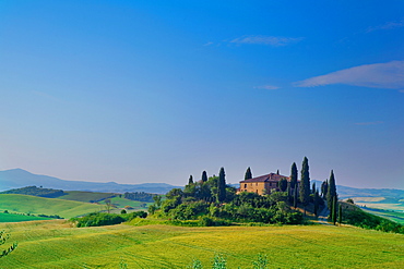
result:
<svg viewBox="0 0 404 269"><path fill-rule="evenodd" d="M180 187L166 183L118 184L116 182L64 181L48 175L33 174L23 169L0 171L0 192L24 186L43 186L63 191L102 193L145 192L153 194L166 194L175 187Z"/></svg>

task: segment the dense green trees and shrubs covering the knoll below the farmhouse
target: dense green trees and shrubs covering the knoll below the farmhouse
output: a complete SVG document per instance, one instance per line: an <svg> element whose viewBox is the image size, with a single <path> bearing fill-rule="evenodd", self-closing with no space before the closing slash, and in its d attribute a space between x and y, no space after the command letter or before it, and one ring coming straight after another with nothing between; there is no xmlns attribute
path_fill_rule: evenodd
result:
<svg viewBox="0 0 404 269"><path fill-rule="evenodd" d="M203 173L204 174L204 173ZM251 176L250 169L246 178ZM218 176L190 182L185 189L174 188L159 205L150 207L155 218L178 221L193 220L200 225L223 225L231 222L302 223L302 215L290 208L286 192L268 195L242 192L226 184L225 169ZM285 188L286 191L286 188Z"/></svg>

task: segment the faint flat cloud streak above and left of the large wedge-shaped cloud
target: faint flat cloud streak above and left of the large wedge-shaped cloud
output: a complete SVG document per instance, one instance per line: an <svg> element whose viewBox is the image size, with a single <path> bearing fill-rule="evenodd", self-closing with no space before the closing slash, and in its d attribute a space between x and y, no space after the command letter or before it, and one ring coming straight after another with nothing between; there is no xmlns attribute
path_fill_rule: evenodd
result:
<svg viewBox="0 0 404 269"><path fill-rule="evenodd" d="M233 39L230 42L235 44L257 44L268 45L273 47L286 46L289 44L299 42L304 37L282 37L282 36L242 36Z"/></svg>

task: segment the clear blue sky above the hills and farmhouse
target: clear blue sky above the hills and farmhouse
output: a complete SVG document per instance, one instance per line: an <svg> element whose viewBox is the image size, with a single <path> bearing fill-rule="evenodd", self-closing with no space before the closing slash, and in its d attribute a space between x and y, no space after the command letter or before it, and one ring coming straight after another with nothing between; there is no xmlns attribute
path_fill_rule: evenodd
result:
<svg viewBox="0 0 404 269"><path fill-rule="evenodd" d="M0 0L0 170L404 188L401 0Z"/></svg>

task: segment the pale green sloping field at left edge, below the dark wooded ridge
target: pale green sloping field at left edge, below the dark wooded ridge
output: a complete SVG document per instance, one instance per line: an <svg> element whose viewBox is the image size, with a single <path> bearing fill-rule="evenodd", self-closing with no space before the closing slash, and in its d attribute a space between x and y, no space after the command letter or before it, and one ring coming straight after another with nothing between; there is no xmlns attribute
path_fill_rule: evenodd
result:
<svg viewBox="0 0 404 269"><path fill-rule="evenodd" d="M99 205L57 198L43 198L21 194L0 194L0 211L22 213L59 215L73 218L88 212L104 210Z"/></svg>

